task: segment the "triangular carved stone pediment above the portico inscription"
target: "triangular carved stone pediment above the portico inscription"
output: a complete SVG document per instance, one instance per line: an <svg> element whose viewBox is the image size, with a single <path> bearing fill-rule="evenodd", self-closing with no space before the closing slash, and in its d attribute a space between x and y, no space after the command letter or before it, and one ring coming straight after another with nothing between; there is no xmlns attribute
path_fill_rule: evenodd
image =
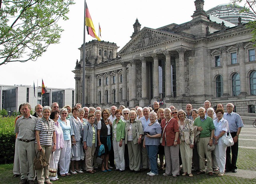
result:
<svg viewBox="0 0 256 184"><path fill-rule="evenodd" d="M119 51L118 55L147 48L165 41L177 39L178 37L181 36L175 33L166 33L165 31L144 27Z"/></svg>

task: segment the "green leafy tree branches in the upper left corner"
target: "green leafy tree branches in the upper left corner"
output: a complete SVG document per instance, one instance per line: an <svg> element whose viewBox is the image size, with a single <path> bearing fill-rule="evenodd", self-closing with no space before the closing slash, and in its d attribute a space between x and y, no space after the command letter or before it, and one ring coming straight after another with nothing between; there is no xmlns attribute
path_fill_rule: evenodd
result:
<svg viewBox="0 0 256 184"><path fill-rule="evenodd" d="M35 61L48 46L59 43L73 0L0 0L0 65Z"/></svg>

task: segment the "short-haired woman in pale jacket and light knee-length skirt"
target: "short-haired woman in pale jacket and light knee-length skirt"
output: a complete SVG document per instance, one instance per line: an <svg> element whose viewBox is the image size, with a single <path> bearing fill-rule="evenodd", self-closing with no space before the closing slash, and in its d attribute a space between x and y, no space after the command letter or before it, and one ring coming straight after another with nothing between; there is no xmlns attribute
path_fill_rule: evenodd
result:
<svg viewBox="0 0 256 184"><path fill-rule="evenodd" d="M71 169L70 172L72 174L83 173L82 170L79 169L78 165L80 160L84 159L83 145L82 145L82 123L78 117L78 108L72 108L72 116L70 117L70 125L71 125ZM75 168L76 165L76 168Z"/></svg>

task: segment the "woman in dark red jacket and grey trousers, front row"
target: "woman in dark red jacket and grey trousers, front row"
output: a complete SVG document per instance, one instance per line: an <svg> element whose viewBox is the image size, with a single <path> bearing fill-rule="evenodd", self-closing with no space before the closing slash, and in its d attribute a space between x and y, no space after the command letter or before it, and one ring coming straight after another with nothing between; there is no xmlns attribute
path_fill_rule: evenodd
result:
<svg viewBox="0 0 256 184"><path fill-rule="evenodd" d="M165 119L162 120L162 145L164 146L164 155L166 168L164 176L171 175L177 177L180 174L179 164L179 125L178 121L171 117L170 108L164 109Z"/></svg>

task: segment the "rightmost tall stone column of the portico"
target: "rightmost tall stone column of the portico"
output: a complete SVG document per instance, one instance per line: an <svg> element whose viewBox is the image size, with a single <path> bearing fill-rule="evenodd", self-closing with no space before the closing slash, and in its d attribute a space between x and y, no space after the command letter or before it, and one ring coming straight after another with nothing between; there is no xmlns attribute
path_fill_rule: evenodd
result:
<svg viewBox="0 0 256 184"><path fill-rule="evenodd" d="M177 86L177 96L185 96L185 61L184 61L184 53L186 52L186 49L183 47L180 47L176 50L179 53L179 74L176 74L176 76L179 76Z"/></svg>

